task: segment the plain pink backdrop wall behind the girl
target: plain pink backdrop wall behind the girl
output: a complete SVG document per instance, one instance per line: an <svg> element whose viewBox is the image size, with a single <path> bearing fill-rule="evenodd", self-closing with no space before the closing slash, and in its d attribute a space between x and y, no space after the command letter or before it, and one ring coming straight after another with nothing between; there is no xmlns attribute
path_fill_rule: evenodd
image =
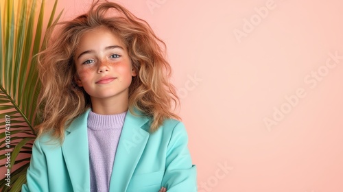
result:
<svg viewBox="0 0 343 192"><path fill-rule="evenodd" d="M342 1L119 3L167 43L198 191L343 191Z"/></svg>

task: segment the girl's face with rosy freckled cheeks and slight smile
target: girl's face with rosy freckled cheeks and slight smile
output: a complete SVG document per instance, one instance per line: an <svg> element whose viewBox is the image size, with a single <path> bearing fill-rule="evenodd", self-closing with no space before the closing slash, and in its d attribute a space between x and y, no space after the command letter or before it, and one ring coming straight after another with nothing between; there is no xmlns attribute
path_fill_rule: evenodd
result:
<svg viewBox="0 0 343 192"><path fill-rule="evenodd" d="M85 32L75 51L75 82L94 101L128 99L132 69L128 50L121 40L102 27ZM125 100L123 100L125 99Z"/></svg>

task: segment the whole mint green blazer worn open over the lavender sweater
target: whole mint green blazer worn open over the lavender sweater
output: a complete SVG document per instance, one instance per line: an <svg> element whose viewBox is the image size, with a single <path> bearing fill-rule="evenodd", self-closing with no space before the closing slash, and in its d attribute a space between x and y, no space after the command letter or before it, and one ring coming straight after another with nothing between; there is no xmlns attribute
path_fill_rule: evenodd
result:
<svg viewBox="0 0 343 192"><path fill-rule="evenodd" d="M62 145L47 134L32 148L27 183L22 191L90 191L86 110L65 131ZM182 122L167 119L153 134L149 119L128 111L119 139L111 192L197 191L196 165L187 147L188 136Z"/></svg>

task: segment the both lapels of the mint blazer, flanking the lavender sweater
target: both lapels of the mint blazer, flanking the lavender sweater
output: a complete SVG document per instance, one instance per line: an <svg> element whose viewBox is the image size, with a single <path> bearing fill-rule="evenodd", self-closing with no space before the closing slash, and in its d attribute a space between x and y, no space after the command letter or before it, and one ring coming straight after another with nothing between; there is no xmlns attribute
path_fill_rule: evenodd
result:
<svg viewBox="0 0 343 192"><path fill-rule="evenodd" d="M77 117L66 129L62 153L73 191L90 190L87 118L91 108ZM138 110L134 110L141 115ZM126 191L134 169L149 138L149 119L134 116L128 110L117 146L110 191Z"/></svg>

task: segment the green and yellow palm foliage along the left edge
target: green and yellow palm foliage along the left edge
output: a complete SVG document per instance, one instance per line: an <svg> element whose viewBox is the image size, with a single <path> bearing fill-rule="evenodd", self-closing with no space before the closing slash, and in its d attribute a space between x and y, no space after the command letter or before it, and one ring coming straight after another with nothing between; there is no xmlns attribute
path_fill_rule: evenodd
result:
<svg viewBox="0 0 343 192"><path fill-rule="evenodd" d="M33 127L40 123L35 115L40 81L34 55L45 48L41 45L45 29L60 19L62 12L54 19L57 3L58 0L49 13L47 25L43 24L45 0L40 5L36 0L6 0L0 4L0 160L4 162L0 164L1 173L9 168L5 164L7 157L2 154L11 154L10 187L1 175L2 191L21 191L26 182L32 143L36 139Z"/></svg>

